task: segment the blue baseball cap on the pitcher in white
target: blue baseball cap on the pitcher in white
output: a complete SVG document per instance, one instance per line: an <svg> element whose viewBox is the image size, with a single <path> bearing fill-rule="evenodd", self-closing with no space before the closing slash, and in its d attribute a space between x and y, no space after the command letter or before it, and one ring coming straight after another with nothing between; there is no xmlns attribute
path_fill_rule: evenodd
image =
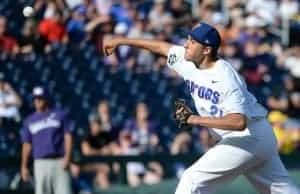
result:
<svg viewBox="0 0 300 194"><path fill-rule="evenodd" d="M218 49L221 44L221 36L217 29L207 23L200 22L189 35L197 42Z"/></svg>

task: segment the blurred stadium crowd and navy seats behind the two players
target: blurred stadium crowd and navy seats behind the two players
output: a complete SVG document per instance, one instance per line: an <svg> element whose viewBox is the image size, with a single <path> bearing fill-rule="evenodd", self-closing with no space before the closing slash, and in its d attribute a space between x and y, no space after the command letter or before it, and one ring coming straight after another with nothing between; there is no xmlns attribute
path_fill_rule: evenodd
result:
<svg viewBox="0 0 300 194"><path fill-rule="evenodd" d="M20 180L20 128L34 111L33 87L43 85L73 124L74 193L173 193L183 170L214 142L205 128L176 127L174 99L192 102L184 81L164 66L165 58L127 46L103 57L102 40L126 36L183 44L199 21L219 30L220 56L270 111L278 150L299 184L299 5L299 0L1 0L0 190L33 192L33 182ZM226 189L219 193L255 193L242 179Z"/></svg>

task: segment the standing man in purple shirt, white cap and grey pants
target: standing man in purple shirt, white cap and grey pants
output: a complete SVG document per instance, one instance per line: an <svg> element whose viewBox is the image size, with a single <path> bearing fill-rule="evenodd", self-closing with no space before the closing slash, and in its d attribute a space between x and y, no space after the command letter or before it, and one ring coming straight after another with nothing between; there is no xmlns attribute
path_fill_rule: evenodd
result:
<svg viewBox="0 0 300 194"><path fill-rule="evenodd" d="M43 87L33 89L35 112L21 130L21 177L29 179L28 162L34 159L35 194L71 194L68 167L71 161L72 134L66 113L52 109Z"/></svg>

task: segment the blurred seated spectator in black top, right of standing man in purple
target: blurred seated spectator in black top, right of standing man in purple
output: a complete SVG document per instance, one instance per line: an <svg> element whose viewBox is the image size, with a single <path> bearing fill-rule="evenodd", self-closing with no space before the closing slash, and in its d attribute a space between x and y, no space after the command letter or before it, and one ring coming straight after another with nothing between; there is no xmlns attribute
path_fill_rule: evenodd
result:
<svg viewBox="0 0 300 194"><path fill-rule="evenodd" d="M90 121L89 133L81 143L81 151L84 156L112 155L112 137L105 131L99 120ZM110 167L106 163L87 164L82 166L83 172L96 174L96 186L107 189L110 186Z"/></svg>

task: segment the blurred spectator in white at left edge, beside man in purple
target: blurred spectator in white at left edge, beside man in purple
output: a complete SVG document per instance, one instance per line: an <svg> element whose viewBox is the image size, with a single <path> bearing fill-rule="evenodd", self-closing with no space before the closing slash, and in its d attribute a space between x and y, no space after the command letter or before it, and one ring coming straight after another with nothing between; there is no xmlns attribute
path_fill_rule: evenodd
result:
<svg viewBox="0 0 300 194"><path fill-rule="evenodd" d="M0 118L20 121L19 108L22 100L0 72Z"/></svg>

